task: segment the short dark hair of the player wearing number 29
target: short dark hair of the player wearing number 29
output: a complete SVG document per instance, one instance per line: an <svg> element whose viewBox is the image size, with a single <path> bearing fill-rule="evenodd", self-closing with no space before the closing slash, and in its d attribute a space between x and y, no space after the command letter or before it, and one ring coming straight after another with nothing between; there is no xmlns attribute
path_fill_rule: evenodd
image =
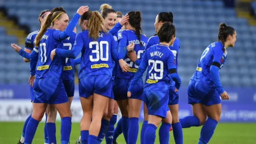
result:
<svg viewBox="0 0 256 144"><path fill-rule="evenodd" d="M170 42L172 36L175 36L175 31L175 26L171 22L164 22L156 32L159 42Z"/></svg>

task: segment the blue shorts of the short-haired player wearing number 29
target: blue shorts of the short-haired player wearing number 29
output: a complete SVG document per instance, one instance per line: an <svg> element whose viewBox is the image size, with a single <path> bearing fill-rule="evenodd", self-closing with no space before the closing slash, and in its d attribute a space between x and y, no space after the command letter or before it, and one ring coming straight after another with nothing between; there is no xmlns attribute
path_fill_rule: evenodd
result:
<svg viewBox="0 0 256 144"><path fill-rule="evenodd" d="M156 115L166 118L168 108L169 92L160 92L154 90L144 91L144 102L148 108L148 116ZM149 120L149 118L148 118Z"/></svg>

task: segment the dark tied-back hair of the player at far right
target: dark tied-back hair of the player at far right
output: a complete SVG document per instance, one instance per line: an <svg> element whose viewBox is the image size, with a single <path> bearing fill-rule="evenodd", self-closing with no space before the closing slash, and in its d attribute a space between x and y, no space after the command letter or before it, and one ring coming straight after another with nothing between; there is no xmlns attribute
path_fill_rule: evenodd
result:
<svg viewBox="0 0 256 144"><path fill-rule="evenodd" d="M234 32L235 32L235 29L233 27L227 26L225 23L220 24L218 40L220 40L223 45L222 47L223 52L226 52L225 50L226 39L228 38L229 35L233 36Z"/></svg>

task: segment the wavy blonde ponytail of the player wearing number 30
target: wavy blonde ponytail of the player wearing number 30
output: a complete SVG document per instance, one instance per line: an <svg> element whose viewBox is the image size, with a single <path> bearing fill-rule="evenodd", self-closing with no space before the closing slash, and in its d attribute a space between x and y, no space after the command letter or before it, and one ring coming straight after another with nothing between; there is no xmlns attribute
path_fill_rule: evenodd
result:
<svg viewBox="0 0 256 144"><path fill-rule="evenodd" d="M99 12L93 11L92 15L88 22L88 35L94 41L99 38L99 32L106 32L106 29L103 27L103 18Z"/></svg>

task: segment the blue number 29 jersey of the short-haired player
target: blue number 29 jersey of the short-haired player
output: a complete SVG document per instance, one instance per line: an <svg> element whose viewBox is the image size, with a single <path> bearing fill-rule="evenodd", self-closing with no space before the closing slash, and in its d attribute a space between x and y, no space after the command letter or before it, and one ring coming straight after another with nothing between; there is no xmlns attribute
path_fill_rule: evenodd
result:
<svg viewBox="0 0 256 144"><path fill-rule="evenodd" d="M170 76L168 70L168 59L174 58L170 48L163 44L156 44L148 48L144 58L148 60L148 72L144 91L159 90L168 91Z"/></svg>

